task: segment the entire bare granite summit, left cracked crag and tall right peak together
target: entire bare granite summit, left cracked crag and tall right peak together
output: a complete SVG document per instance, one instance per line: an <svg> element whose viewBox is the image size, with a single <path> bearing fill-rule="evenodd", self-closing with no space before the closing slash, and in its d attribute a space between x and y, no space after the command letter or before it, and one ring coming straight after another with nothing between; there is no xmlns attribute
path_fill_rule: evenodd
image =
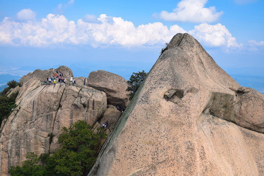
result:
<svg viewBox="0 0 264 176"><path fill-rule="evenodd" d="M121 76L97 70L73 86L70 68L56 70L66 84L44 84L55 71L37 69L7 92L19 91L18 106L0 127L0 176L28 152L53 154L78 120L94 132L110 124L88 176L264 175L264 95L241 87L191 35L173 37L131 102Z"/></svg>

